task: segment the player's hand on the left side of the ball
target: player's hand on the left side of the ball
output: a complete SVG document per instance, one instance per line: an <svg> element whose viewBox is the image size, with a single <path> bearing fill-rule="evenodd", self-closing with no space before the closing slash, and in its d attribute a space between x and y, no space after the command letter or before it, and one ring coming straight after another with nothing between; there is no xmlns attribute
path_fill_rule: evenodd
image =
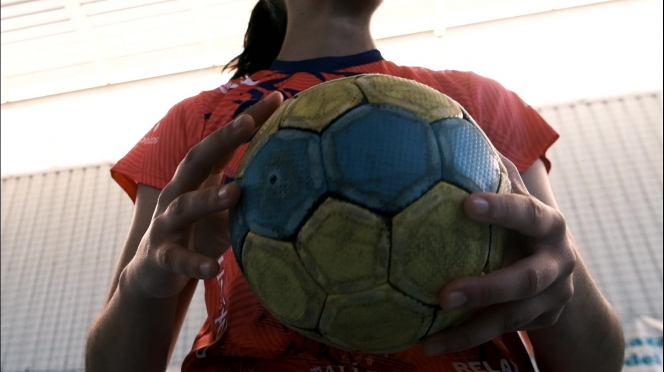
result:
<svg viewBox="0 0 664 372"><path fill-rule="evenodd" d="M187 281L209 279L228 249L228 209L240 198L236 183L220 185L221 171L242 143L282 103L272 93L195 145L159 194L155 213L123 275L141 294L177 296Z"/></svg>

